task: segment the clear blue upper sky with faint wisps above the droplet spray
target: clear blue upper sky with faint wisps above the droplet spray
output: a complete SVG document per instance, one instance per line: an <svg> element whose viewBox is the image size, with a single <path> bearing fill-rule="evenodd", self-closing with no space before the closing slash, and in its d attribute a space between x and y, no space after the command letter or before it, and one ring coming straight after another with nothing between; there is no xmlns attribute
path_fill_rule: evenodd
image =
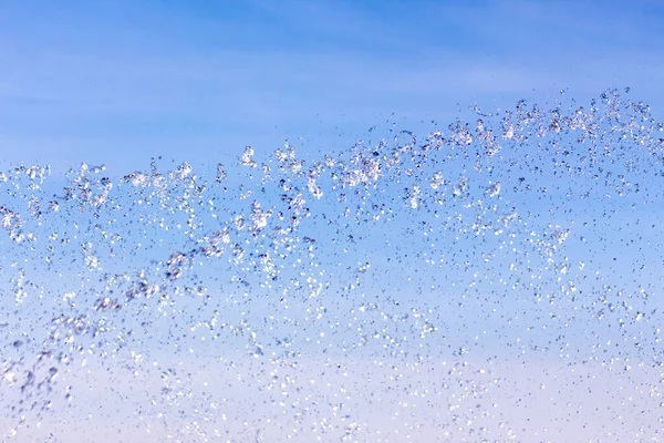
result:
<svg viewBox="0 0 664 443"><path fill-rule="evenodd" d="M205 162L287 137L340 148L387 119L426 128L468 105L551 101L564 87L583 101L632 86L662 115L663 8L4 2L0 161L120 174L154 155Z"/></svg>

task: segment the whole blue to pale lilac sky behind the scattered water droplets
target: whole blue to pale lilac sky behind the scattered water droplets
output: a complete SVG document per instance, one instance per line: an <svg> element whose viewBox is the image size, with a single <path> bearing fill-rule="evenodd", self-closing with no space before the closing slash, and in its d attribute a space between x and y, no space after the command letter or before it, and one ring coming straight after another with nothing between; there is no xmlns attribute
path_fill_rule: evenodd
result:
<svg viewBox="0 0 664 443"><path fill-rule="evenodd" d="M620 131L604 122L612 150L592 162L577 133L551 131L537 150L536 137L532 146L499 137L510 147L477 162L459 148L449 163L432 151L421 165L404 151L375 186L366 176L341 183L371 169L372 143L388 131L422 141L474 105L554 107L564 92L588 107L608 87L629 86L662 121L662 29L657 1L0 2L0 173L53 169L42 188L28 174L0 176L0 293L11 300L0 306L0 332L13 343L3 364L28 368L28 350L48 336L51 360L32 370L51 387L49 365L60 369L55 413L41 427L28 413L17 440L196 441L198 425L211 441L257 442L291 432L385 442L658 435L662 301L639 290L664 289L664 187L636 138L621 152ZM499 119L486 120L499 127ZM320 177L317 199L311 173L291 173L289 161L270 163L283 182L238 162L247 145L261 159L287 140L297 158L354 146L364 163L346 151L344 174L325 169L342 179ZM118 179L148 171L153 157L172 171L165 188L155 173L145 186ZM189 186L197 177L174 171L183 161L212 174L222 162L229 178L207 176L204 198ZM62 197L69 167L71 199ZM421 183L436 171L439 189ZM453 197L465 177L468 196ZM495 182L502 190L488 196ZM412 204L414 185L423 206ZM112 199L91 203L108 189ZM300 190L307 207L289 199ZM52 199L59 212L45 209ZM8 208L21 212L22 230ZM252 230L267 209L268 227ZM282 227L294 215L302 241L290 249ZM203 254L226 227L231 243L215 246L229 251ZM569 239L557 240L566 229ZM246 253L239 265L236 247ZM251 268L266 251L279 279ZM188 254L190 269L169 284L174 253ZM313 277L329 284L318 295ZM98 308L101 295L142 279L162 292ZM179 291L186 285L196 288ZM52 337L81 318L87 329L70 336L71 348ZM64 362L63 350L72 352ZM14 367L0 368L0 383L17 387ZM7 404L22 395L0 391ZM51 396L28 389L25 399ZM14 425L0 418L3 435ZM212 429L226 435L215 440Z"/></svg>

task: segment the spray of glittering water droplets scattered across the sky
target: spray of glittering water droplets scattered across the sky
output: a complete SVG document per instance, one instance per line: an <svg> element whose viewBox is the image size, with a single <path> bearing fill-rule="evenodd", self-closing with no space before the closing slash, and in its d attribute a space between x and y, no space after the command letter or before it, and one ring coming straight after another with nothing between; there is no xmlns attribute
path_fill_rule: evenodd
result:
<svg viewBox="0 0 664 443"><path fill-rule="evenodd" d="M649 106L369 135L1 172L3 441L662 439Z"/></svg>

